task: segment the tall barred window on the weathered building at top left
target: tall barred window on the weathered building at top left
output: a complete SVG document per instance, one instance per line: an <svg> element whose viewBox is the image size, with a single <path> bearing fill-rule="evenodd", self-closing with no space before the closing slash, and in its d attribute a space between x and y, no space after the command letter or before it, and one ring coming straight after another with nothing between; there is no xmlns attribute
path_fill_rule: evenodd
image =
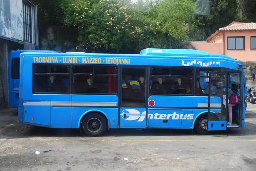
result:
<svg viewBox="0 0 256 171"><path fill-rule="evenodd" d="M38 45L36 6L28 0L23 0L23 39L25 42Z"/></svg>

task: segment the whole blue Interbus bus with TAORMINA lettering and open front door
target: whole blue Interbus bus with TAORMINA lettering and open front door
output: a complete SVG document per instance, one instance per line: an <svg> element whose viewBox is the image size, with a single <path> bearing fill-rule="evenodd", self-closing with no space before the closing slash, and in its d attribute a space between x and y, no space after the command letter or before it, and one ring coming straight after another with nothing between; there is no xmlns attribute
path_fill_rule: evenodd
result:
<svg viewBox="0 0 256 171"><path fill-rule="evenodd" d="M20 54L21 123L80 129L195 129L200 134L243 128L243 64L191 49L144 49L140 54ZM239 104L228 125L227 94Z"/></svg>

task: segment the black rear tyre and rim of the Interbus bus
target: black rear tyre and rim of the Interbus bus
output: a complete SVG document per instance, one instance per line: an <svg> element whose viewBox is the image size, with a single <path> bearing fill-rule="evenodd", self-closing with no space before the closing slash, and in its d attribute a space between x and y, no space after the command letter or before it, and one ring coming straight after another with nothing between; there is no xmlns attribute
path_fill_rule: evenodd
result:
<svg viewBox="0 0 256 171"><path fill-rule="evenodd" d="M107 127L106 119L99 113L90 113L82 121L82 130L87 136L101 136Z"/></svg>

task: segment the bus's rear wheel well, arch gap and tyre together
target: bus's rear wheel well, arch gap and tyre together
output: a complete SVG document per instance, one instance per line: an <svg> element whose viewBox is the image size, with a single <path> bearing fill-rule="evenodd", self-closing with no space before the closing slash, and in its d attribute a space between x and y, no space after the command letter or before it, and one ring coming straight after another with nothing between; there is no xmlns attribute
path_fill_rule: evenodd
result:
<svg viewBox="0 0 256 171"><path fill-rule="evenodd" d="M106 115L97 110L84 113L80 119L80 131L88 136L100 136L108 128Z"/></svg>

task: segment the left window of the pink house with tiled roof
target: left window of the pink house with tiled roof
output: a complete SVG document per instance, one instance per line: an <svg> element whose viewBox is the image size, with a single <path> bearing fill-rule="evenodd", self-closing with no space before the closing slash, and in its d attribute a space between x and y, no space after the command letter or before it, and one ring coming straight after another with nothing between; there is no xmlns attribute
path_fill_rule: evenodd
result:
<svg viewBox="0 0 256 171"><path fill-rule="evenodd" d="M228 50L244 50L245 37L228 37Z"/></svg>

